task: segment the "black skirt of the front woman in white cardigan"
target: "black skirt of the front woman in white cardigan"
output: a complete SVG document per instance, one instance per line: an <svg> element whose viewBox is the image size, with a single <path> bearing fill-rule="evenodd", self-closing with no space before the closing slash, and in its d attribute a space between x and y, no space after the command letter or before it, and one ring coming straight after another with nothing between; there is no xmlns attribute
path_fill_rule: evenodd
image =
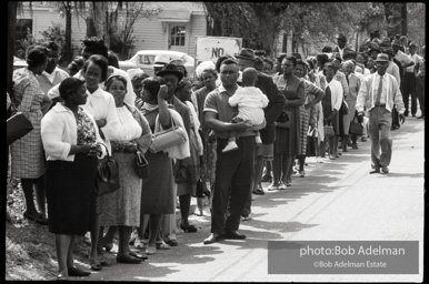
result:
<svg viewBox="0 0 429 284"><path fill-rule="evenodd" d="M98 159L76 154L73 162L48 161L46 191L49 232L84 235L90 231Z"/></svg>

